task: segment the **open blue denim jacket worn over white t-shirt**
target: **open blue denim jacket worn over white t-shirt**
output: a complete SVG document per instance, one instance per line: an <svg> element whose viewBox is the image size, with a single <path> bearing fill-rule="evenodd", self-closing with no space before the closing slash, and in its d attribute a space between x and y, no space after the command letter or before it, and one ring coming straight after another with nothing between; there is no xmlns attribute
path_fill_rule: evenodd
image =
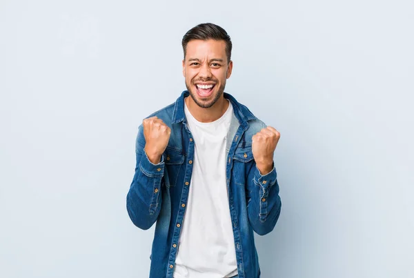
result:
<svg viewBox="0 0 414 278"><path fill-rule="evenodd" d="M194 140L184 114L182 92L175 103L153 113L171 128L170 141L158 164L144 152L145 138L139 126L137 165L126 207L135 226L148 229L157 221L152 242L150 278L172 278L179 248L188 190L193 171ZM252 153L252 137L266 125L246 106L224 93L233 104L237 121L232 121L226 142L226 177L230 217L240 278L260 277L253 231L266 235L279 218L282 203L276 169L261 175ZM185 224L184 224L185 225ZM214 231L212 231L214 232ZM200 242L200 244L203 244Z"/></svg>

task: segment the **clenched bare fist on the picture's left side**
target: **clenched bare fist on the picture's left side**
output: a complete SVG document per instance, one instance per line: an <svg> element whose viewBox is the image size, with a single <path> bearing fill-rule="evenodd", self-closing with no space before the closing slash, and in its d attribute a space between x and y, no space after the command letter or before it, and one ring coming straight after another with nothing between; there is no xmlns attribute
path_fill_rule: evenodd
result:
<svg viewBox="0 0 414 278"><path fill-rule="evenodd" d="M145 147L148 159L154 164L161 161L161 155L166 150L170 140L171 129L158 117L150 117L142 121L144 126Z"/></svg>

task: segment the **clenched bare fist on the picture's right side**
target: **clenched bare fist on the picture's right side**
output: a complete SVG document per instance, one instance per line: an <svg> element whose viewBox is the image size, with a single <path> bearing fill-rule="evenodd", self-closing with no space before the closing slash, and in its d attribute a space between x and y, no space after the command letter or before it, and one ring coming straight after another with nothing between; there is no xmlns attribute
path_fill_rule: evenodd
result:
<svg viewBox="0 0 414 278"><path fill-rule="evenodd" d="M279 131L271 126L262 128L252 137L253 158L262 175L266 175L273 169L273 153L279 138Z"/></svg>

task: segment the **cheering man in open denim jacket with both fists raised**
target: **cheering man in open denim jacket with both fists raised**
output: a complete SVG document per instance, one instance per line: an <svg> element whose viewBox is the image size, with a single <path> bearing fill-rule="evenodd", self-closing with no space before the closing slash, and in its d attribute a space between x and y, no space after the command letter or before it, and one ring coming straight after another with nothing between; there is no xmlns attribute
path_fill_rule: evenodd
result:
<svg viewBox="0 0 414 278"><path fill-rule="evenodd" d="M224 92L232 43L212 23L182 40L187 90L139 126L127 196L132 222L157 221L151 278L257 278L253 231L275 227L280 134Z"/></svg>

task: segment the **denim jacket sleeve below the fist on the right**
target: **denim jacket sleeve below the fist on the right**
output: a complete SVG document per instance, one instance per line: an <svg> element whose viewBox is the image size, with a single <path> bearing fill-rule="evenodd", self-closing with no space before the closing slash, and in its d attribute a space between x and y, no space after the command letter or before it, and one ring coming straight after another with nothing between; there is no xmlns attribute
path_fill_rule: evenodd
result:
<svg viewBox="0 0 414 278"><path fill-rule="evenodd" d="M250 225L258 235L266 235L275 228L282 208L275 163L273 163L273 170L266 175L261 175L253 161L246 186L250 195L247 204Z"/></svg>

